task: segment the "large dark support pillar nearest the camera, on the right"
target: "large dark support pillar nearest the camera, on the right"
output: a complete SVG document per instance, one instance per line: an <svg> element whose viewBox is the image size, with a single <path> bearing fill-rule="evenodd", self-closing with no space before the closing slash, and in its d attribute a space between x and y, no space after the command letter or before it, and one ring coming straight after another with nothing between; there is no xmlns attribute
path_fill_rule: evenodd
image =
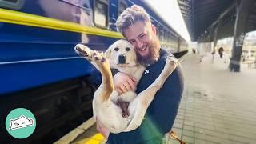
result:
<svg viewBox="0 0 256 144"><path fill-rule="evenodd" d="M240 72L240 60L242 45L246 35L246 22L250 14L250 7L254 0L237 1L237 17L234 24L234 42L232 46L232 56L230 58L230 71Z"/></svg>

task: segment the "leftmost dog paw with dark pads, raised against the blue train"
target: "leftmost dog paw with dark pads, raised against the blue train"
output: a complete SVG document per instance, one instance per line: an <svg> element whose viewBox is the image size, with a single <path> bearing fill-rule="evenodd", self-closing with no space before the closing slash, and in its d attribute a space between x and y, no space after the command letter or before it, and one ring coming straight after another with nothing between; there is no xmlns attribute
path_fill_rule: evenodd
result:
<svg viewBox="0 0 256 144"><path fill-rule="evenodd" d="M86 58L87 60L91 61L92 58L92 50L89 47L84 46L82 44L77 44L74 46L74 51L79 54L80 56Z"/></svg>

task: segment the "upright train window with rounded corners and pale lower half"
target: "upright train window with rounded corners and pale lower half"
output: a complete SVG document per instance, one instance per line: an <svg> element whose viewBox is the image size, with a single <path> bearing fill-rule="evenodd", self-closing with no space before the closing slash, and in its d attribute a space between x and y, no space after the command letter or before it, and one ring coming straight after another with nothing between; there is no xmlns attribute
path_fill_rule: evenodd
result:
<svg viewBox="0 0 256 144"><path fill-rule="evenodd" d="M108 0L96 0L94 2L94 24L106 28L108 24Z"/></svg>

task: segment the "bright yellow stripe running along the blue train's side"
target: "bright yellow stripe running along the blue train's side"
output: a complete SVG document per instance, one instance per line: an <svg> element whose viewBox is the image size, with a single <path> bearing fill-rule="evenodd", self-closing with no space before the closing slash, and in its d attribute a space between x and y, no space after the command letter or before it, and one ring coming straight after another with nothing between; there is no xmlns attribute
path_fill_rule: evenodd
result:
<svg viewBox="0 0 256 144"><path fill-rule="evenodd" d="M26 14L14 10L0 8L0 22L14 23L25 26L36 26L54 30L65 30L83 34L102 35L112 38L123 38L121 33L102 30L90 26L82 26L74 22L65 22L54 18L46 18L34 14Z"/></svg>

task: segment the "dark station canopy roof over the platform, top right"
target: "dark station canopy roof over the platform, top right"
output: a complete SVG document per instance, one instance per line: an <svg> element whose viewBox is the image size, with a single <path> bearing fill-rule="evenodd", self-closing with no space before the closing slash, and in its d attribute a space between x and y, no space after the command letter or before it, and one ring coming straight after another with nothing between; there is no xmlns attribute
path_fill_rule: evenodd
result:
<svg viewBox="0 0 256 144"><path fill-rule="evenodd" d="M178 0L191 41L213 41L214 29L222 20L218 39L234 35L237 7L242 0ZM256 1L250 6L246 33L256 30Z"/></svg>

